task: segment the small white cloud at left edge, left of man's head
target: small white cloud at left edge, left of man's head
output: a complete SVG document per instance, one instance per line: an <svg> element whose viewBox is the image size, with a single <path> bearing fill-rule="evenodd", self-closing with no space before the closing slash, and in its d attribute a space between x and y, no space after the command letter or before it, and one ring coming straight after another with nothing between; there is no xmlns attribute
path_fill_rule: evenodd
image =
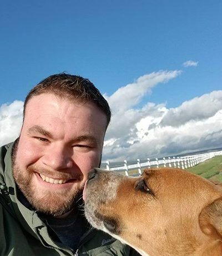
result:
<svg viewBox="0 0 222 256"><path fill-rule="evenodd" d="M22 127L23 102L14 101L0 107L0 146L13 141Z"/></svg>

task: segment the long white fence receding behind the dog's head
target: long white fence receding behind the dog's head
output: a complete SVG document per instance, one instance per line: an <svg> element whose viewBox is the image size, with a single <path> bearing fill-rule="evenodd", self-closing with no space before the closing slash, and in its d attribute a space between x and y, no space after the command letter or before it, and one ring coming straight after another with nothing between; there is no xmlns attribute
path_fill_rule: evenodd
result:
<svg viewBox="0 0 222 256"><path fill-rule="evenodd" d="M137 159L137 164L128 165L127 160L124 160L122 166L110 167L109 161L106 162L106 169L110 171L124 171L125 175L129 176L129 170L138 170L138 173L134 174L138 176L142 174L142 168L159 168L161 167L171 167L171 168L181 168L186 169L198 165L214 156L222 155L222 151L214 151L197 155L187 155L181 157L163 157L162 159L156 158L153 161L150 161L148 158L144 163L140 163L140 159Z"/></svg>

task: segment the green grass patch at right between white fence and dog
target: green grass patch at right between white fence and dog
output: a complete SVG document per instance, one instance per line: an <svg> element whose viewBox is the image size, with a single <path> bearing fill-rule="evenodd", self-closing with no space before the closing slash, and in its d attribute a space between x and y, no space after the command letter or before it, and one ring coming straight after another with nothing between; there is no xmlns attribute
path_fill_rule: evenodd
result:
<svg viewBox="0 0 222 256"><path fill-rule="evenodd" d="M186 170L198 174L205 179L222 183L222 156L215 156Z"/></svg>

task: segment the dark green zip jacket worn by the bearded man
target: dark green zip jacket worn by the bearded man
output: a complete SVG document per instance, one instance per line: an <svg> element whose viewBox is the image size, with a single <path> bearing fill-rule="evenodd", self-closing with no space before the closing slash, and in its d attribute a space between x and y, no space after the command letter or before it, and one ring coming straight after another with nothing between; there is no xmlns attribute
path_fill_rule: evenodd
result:
<svg viewBox="0 0 222 256"><path fill-rule="evenodd" d="M95 229L83 236L77 252L54 242L36 211L27 209L17 198L12 175L12 147L13 143L0 147L0 256L139 255Z"/></svg>

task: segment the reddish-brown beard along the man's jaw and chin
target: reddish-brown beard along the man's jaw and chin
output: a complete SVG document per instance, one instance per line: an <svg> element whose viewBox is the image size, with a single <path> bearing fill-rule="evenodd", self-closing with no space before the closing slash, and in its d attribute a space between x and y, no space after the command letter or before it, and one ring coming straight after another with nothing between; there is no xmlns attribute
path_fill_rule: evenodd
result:
<svg viewBox="0 0 222 256"><path fill-rule="evenodd" d="M16 161L16 152L17 145L13 151L13 177L18 188L34 209L47 215L60 216L76 207L77 200L79 200L83 190L80 184L75 190L50 191L47 189L37 191L33 182L34 170L37 169L33 165L29 166L27 170L20 169ZM49 171L42 170L42 173L47 172Z"/></svg>

